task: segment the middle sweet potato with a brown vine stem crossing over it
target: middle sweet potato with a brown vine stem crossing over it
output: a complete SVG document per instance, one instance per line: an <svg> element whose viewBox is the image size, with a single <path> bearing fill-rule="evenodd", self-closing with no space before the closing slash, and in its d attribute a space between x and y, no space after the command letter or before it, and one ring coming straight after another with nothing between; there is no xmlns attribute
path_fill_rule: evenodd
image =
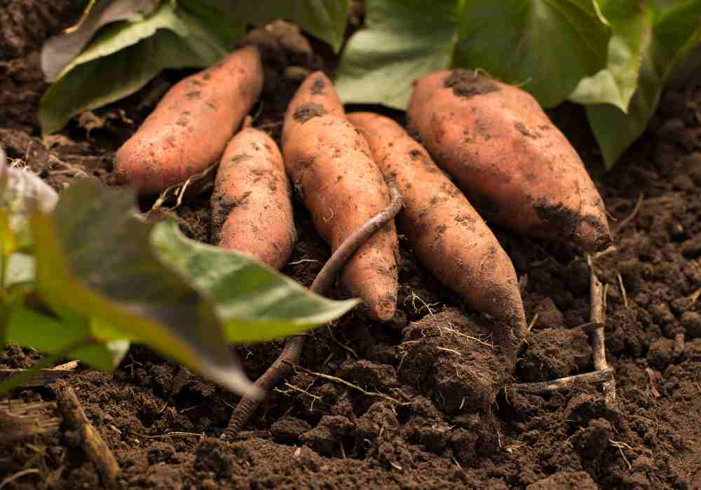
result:
<svg viewBox="0 0 701 490"><path fill-rule="evenodd" d="M304 80L287 108L283 156L316 229L334 251L389 203L367 141L348 123L334 85L321 72ZM393 220L358 249L341 282L364 300L372 318L392 318L397 302Z"/></svg>

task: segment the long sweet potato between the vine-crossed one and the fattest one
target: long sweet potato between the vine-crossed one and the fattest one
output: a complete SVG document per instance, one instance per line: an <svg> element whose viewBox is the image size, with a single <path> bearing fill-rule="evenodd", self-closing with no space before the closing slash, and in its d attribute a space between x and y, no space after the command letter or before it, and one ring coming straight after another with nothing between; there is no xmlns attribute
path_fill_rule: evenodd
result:
<svg viewBox="0 0 701 490"><path fill-rule="evenodd" d="M463 193L428 152L393 120L351 113L348 120L367 139L385 179L404 197L397 228L414 253L470 307L503 326L501 342L526 333L524 305L514 266Z"/></svg>

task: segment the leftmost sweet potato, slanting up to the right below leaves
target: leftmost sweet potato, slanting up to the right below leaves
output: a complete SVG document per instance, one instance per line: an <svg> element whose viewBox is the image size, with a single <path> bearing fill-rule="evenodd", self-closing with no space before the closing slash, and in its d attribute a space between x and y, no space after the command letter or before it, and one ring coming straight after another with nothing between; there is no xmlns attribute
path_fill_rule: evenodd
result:
<svg viewBox="0 0 701 490"><path fill-rule="evenodd" d="M252 46L173 85L117 151L118 181L149 195L213 165L262 86L263 66Z"/></svg>

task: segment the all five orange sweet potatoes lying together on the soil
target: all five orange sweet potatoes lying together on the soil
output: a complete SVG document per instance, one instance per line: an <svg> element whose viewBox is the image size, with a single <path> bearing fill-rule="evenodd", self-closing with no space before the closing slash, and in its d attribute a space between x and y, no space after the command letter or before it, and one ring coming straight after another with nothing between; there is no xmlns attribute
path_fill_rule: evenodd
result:
<svg viewBox="0 0 701 490"><path fill-rule="evenodd" d="M379 114L346 115L331 80L311 73L285 114L281 152L265 132L239 130L263 83L252 46L185 78L118 151L118 178L149 195L219 163L212 236L277 269L296 238L291 183L335 250L388 206L393 181L404 199L399 232L468 307L494 317L504 346L523 339L526 320L515 269L487 223L587 252L611 244L583 162L517 87L472 71L432 73L416 81L407 132ZM388 223L341 273L376 321L395 314L397 258Z"/></svg>

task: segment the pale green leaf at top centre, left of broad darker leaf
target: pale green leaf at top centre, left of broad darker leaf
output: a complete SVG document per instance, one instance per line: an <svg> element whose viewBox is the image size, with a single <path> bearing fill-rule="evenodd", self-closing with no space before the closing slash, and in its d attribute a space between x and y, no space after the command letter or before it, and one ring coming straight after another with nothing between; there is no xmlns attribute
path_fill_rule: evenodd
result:
<svg viewBox="0 0 701 490"><path fill-rule="evenodd" d="M343 51L336 90L343 102L404 109L411 81L451 64L458 1L368 0L365 29Z"/></svg>

